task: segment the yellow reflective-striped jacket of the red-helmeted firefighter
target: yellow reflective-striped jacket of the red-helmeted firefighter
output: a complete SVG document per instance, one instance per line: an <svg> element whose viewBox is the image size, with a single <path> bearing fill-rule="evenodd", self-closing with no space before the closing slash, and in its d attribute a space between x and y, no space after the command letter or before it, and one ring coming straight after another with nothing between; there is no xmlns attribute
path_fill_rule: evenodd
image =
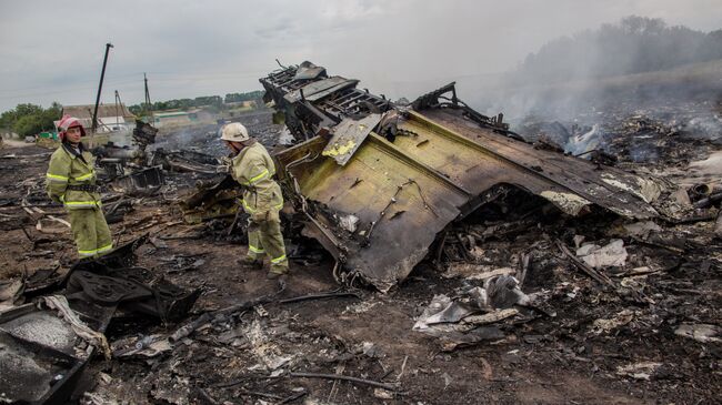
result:
<svg viewBox="0 0 722 405"><path fill-rule="evenodd" d="M46 183L48 196L69 210L100 207L93 165L94 158L82 143L79 151L62 143L50 156Z"/></svg>

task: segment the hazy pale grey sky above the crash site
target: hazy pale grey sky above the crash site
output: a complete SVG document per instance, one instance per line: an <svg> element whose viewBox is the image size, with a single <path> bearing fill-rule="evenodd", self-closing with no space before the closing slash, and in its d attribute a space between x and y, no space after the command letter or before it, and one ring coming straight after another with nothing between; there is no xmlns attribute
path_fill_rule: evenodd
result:
<svg viewBox="0 0 722 405"><path fill-rule="evenodd" d="M630 14L722 28L720 0L0 0L0 111L93 103L106 42L106 103L140 102L143 72L153 100L260 90L277 58L411 99Z"/></svg>

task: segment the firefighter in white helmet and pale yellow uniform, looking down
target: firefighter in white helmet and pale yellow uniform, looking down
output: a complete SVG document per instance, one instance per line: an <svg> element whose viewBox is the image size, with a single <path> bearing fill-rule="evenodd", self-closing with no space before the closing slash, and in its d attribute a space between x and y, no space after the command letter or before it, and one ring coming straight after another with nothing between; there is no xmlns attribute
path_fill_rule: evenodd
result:
<svg viewBox="0 0 722 405"><path fill-rule="evenodd" d="M221 140L232 151L231 175L243 188L243 210L250 215L248 227L248 264L262 265L269 256L271 269L268 279L284 276L289 272L285 245L281 234L279 211L283 207L281 188L273 180L275 165L265 148L249 136L241 123L227 124Z"/></svg>

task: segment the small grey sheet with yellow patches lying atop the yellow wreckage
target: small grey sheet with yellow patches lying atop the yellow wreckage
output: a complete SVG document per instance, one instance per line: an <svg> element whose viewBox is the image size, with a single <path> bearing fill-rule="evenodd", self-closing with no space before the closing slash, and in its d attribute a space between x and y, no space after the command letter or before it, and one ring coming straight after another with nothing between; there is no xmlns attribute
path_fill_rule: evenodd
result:
<svg viewBox="0 0 722 405"><path fill-rule="evenodd" d="M344 119L333 128L333 136L321 154L345 165L380 121L381 114L369 114L361 120Z"/></svg>

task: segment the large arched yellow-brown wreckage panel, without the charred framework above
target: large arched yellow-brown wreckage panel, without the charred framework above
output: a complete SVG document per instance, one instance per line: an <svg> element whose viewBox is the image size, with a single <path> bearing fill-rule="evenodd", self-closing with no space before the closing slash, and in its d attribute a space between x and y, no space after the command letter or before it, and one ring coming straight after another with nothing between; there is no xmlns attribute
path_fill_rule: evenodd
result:
<svg viewBox="0 0 722 405"><path fill-rule="evenodd" d="M320 155L327 145L320 138L297 146L297 151L293 148L278 155L283 166L302 155L314 156L288 169L307 201L318 204L315 219L323 225L313 226L332 232L338 244L335 250L342 252L338 259L345 261L344 267L381 291L389 290L411 272L425 256L437 234L462 214L462 207L467 205L465 211L471 212L478 206L468 205L483 203L475 198L500 183L537 193L572 215L591 203L620 213L630 212L630 216L650 216L653 212L641 199L619 190L612 192L611 186L598 186L601 190L598 195L603 195L603 200L589 193L580 196L568 189L580 186L574 183L576 179L555 176L554 172L539 173L509 160L539 156L542 151L520 149L514 156L500 156L480 145L471 145L443 128L429 130L430 124L412 113L401 126L413 131L415 136L398 136L391 143L371 133L344 166ZM537 160L562 173L563 164L571 161ZM568 165L566 170L589 172L590 178L583 180L590 189L592 182L605 184L599 173L616 175L586 168L593 168L591 163L581 163ZM626 203L625 199L632 202Z"/></svg>

